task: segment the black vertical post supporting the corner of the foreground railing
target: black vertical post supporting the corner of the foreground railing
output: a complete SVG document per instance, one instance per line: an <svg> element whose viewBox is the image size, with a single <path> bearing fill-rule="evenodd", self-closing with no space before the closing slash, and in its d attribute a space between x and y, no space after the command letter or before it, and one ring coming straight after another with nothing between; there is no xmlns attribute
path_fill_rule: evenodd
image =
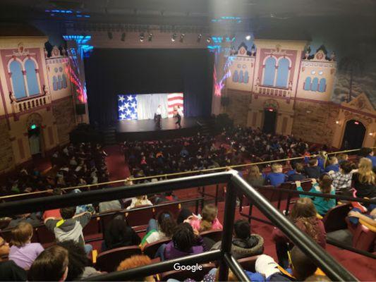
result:
<svg viewBox="0 0 376 282"><path fill-rule="evenodd" d="M219 262L219 281L227 281L229 276L229 266L224 257L225 254L231 255L232 229L234 228L235 209L236 209L236 188L230 182L227 185L226 199L224 203L224 230L221 246L221 260Z"/></svg>

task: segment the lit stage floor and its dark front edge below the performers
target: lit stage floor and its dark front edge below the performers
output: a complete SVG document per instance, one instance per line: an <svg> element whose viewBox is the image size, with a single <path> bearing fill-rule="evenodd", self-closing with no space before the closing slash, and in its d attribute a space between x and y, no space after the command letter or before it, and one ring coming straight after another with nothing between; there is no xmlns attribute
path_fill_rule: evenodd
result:
<svg viewBox="0 0 376 282"><path fill-rule="evenodd" d="M115 124L116 140L164 140L188 137L198 133L207 118L181 118L181 128L176 125L176 118L162 118L162 128L155 126L153 119L142 121L118 121Z"/></svg>

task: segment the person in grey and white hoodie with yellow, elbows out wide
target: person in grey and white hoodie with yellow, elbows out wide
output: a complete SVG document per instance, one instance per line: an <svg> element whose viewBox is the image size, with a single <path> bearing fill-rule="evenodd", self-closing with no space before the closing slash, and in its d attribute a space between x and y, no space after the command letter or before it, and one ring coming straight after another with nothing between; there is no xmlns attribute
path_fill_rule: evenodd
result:
<svg viewBox="0 0 376 282"><path fill-rule="evenodd" d="M44 219L44 225L49 231L54 233L58 242L73 240L85 247L85 252L89 254L92 250L92 245L85 245L83 228L92 219L92 214L90 212L75 214L75 211L76 207L64 207L60 209L62 219L49 217Z"/></svg>

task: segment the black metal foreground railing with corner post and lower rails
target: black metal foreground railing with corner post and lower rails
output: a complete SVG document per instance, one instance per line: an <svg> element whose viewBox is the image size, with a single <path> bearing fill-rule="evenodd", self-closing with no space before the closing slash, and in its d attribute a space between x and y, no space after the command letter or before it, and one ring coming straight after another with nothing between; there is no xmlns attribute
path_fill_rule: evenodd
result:
<svg viewBox="0 0 376 282"><path fill-rule="evenodd" d="M171 180L159 181L156 183L143 183L138 185L123 186L119 188L108 188L105 190L94 190L89 192L51 196L37 199L20 200L17 202L6 202L0 204L0 216L9 214L20 214L27 212L37 212L41 209L56 209L59 207L71 207L78 204L88 204L91 202L103 202L108 200L135 197L150 193L166 192L171 190L181 190L185 188L197 187L200 185L212 185L216 183L227 183L225 210L224 210L224 230L221 250L217 252L205 252L200 255L183 257L172 261L160 262L157 264L142 266L137 269L119 271L111 274L98 276L102 281L121 280L124 277L145 276L147 274L157 274L166 269L172 269L174 262L194 264L195 262L208 262L219 259L219 281L226 281L229 267L234 270L234 274L241 281L249 281L245 276L241 266L236 259L231 256L231 239L234 226L236 195L243 193L252 200L260 211L281 229L287 237L301 250L311 257L315 264L327 274L333 281L356 281L356 277L348 272L336 260L334 260L325 250L322 249L311 238L308 238L302 231L286 219L275 207L262 197L257 190L238 176L237 171L224 171L220 173L210 173L200 176L189 176L186 178L175 178ZM196 259L196 261L195 261ZM149 270L147 270L149 269ZM146 272L145 272L146 271ZM128 275L128 276L127 276ZM93 278L94 279L94 278Z"/></svg>

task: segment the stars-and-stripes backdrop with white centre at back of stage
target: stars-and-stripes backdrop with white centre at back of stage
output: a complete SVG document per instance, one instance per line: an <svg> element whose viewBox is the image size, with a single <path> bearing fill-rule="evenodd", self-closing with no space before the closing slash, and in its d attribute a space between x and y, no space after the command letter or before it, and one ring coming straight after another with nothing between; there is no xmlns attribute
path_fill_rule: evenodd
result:
<svg viewBox="0 0 376 282"><path fill-rule="evenodd" d="M184 111L183 98L183 93L119 94L118 118L119 121L152 119L159 105L162 118L172 118L177 106Z"/></svg>

